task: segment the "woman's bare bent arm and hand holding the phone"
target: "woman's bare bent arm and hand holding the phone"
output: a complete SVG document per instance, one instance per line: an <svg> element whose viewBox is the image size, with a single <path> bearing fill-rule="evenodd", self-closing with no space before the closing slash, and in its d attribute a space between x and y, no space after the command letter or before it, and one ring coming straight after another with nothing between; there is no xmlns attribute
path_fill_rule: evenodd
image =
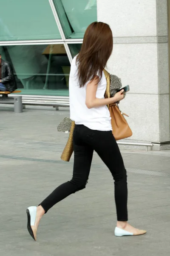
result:
<svg viewBox="0 0 170 256"><path fill-rule="evenodd" d="M114 97L111 97L108 99L96 98L98 83L99 83L99 76L96 76L96 78L93 81L90 81L87 84L85 104L88 108L97 108L104 105L109 105L114 102L118 102L124 98L122 94L124 90L121 90L119 93L116 93Z"/></svg>

